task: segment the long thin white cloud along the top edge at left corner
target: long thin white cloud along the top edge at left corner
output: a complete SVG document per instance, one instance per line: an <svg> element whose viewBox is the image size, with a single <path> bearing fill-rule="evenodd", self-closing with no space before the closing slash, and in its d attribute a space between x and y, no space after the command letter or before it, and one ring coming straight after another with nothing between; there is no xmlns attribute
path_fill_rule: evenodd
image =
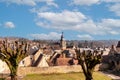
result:
<svg viewBox="0 0 120 80"><path fill-rule="evenodd" d="M58 5L54 3L54 0L1 0L0 2L29 6L35 6L37 3L45 2L47 5L58 7Z"/></svg>

